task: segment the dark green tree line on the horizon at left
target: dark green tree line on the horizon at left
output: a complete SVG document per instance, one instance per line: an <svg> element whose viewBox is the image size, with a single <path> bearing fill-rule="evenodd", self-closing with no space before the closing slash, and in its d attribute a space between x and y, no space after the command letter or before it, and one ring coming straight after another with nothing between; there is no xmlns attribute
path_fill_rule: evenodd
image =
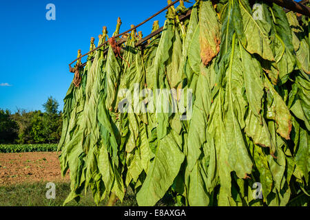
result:
<svg viewBox="0 0 310 220"><path fill-rule="evenodd" d="M0 109L0 144L53 144L61 138L62 112L51 97L43 104L44 112Z"/></svg>

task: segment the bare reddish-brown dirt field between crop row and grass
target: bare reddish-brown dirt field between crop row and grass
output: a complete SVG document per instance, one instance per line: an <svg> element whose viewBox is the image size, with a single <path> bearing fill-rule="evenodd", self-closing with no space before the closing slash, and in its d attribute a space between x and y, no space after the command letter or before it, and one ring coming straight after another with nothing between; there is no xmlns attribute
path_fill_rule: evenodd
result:
<svg viewBox="0 0 310 220"><path fill-rule="evenodd" d="M0 153L0 185L36 181L70 181L61 177L56 152Z"/></svg>

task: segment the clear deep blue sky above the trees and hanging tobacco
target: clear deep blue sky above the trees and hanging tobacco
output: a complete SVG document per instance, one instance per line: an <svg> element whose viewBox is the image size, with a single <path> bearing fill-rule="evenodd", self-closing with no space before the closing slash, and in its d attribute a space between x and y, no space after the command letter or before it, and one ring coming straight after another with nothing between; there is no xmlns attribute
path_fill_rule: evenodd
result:
<svg viewBox="0 0 310 220"><path fill-rule="evenodd" d="M45 19L48 3L56 6L56 21ZM118 17L123 21L122 32L166 5L166 0L1 1L0 109L43 110L42 104L53 96L62 110L73 77L68 64L76 58L77 50L88 52L92 36L98 43L103 25L110 36ZM154 20L162 26L165 12L138 30L146 36Z"/></svg>

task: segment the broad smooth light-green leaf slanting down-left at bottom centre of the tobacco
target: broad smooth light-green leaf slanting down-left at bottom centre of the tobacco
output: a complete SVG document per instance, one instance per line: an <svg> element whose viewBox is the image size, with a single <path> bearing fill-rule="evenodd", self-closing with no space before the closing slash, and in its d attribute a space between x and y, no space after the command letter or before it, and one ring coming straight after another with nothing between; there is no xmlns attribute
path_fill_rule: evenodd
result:
<svg viewBox="0 0 310 220"><path fill-rule="evenodd" d="M172 135L166 135L158 142L147 177L136 195L139 206L154 206L165 195L178 175L184 157Z"/></svg>

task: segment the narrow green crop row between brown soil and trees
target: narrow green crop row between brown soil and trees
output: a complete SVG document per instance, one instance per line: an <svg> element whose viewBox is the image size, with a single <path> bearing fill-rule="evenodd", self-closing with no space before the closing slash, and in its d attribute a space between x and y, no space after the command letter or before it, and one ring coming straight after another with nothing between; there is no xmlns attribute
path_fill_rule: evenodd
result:
<svg viewBox="0 0 310 220"><path fill-rule="evenodd" d="M0 153L57 151L57 144L0 144Z"/></svg>

